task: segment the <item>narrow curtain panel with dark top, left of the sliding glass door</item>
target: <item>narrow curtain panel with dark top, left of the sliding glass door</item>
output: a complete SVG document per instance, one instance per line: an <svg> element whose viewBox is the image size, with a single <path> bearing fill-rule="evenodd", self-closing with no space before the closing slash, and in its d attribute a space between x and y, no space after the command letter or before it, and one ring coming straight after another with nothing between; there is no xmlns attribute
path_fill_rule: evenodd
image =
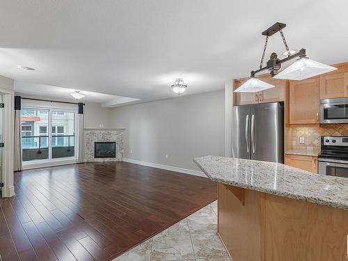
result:
<svg viewBox="0 0 348 261"><path fill-rule="evenodd" d="M22 171L22 113L21 97L15 96L15 148L13 155L13 171Z"/></svg>

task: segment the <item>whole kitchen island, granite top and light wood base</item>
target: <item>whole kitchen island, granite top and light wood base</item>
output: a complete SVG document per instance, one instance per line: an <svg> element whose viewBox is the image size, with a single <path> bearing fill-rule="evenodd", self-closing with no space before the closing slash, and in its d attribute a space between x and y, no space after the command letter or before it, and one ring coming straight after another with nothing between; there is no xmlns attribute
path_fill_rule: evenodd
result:
<svg viewBox="0 0 348 261"><path fill-rule="evenodd" d="M194 161L218 182L218 232L234 261L348 260L348 179L250 159Z"/></svg>

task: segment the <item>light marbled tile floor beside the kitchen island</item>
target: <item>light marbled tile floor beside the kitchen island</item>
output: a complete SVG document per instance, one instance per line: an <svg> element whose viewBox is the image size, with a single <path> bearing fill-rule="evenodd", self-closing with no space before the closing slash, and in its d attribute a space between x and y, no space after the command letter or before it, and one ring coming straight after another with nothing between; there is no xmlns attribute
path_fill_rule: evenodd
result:
<svg viewBox="0 0 348 261"><path fill-rule="evenodd" d="M203 207L114 261L230 261L216 234L216 203Z"/></svg>

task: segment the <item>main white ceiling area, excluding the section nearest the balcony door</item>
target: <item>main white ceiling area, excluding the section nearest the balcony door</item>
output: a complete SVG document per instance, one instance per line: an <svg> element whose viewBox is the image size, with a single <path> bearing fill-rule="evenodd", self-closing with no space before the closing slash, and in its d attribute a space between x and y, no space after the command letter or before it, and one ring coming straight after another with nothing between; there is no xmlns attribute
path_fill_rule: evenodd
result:
<svg viewBox="0 0 348 261"><path fill-rule="evenodd" d="M347 10L347 0L1 0L0 74L141 102L176 97L176 77L185 95L201 93L257 69L274 22L287 24L290 49L348 61ZM283 49L272 36L265 60Z"/></svg>

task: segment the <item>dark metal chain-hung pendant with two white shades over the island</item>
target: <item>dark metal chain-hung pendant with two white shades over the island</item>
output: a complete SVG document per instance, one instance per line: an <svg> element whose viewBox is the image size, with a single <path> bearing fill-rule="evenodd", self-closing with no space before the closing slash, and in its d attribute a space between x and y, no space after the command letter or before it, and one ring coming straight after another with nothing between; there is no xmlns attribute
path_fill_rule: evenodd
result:
<svg viewBox="0 0 348 261"><path fill-rule="evenodd" d="M313 60L310 60L306 56L306 49L301 49L299 52L294 52L289 49L287 46L287 42L285 40L284 34L283 34L283 28L285 28L286 24L282 24L277 22L276 24L272 25L267 29L266 31L262 32L262 35L266 35L266 40L264 42L264 49L261 57L260 62L260 69L253 70L250 72L251 79L248 79L242 86L239 86L235 90L235 93L257 93L260 91L260 88L263 88L262 90L267 90L268 88L273 88L274 86L271 84L267 84L264 81L261 81L257 79L258 81L255 81L255 74L258 74L259 72L262 72L264 70L269 70L271 77L274 77L275 79L290 79L290 80L303 80L308 79L310 77L317 76L319 74L324 74L326 72L331 72L333 70L337 70L337 68L334 68L330 65L325 65L324 63L319 63ZM263 67L263 60L264 60L264 54L267 49L267 42L269 39L269 36L274 35L274 33L280 32L280 36L283 39L283 43L285 45L287 54L286 58L279 59L278 55L276 53L272 53L271 57L269 58L269 61L267 61L266 66ZM285 70L278 73L278 70L281 68L281 64L285 63L287 61L292 60L293 58L299 57L292 65L290 65Z"/></svg>

